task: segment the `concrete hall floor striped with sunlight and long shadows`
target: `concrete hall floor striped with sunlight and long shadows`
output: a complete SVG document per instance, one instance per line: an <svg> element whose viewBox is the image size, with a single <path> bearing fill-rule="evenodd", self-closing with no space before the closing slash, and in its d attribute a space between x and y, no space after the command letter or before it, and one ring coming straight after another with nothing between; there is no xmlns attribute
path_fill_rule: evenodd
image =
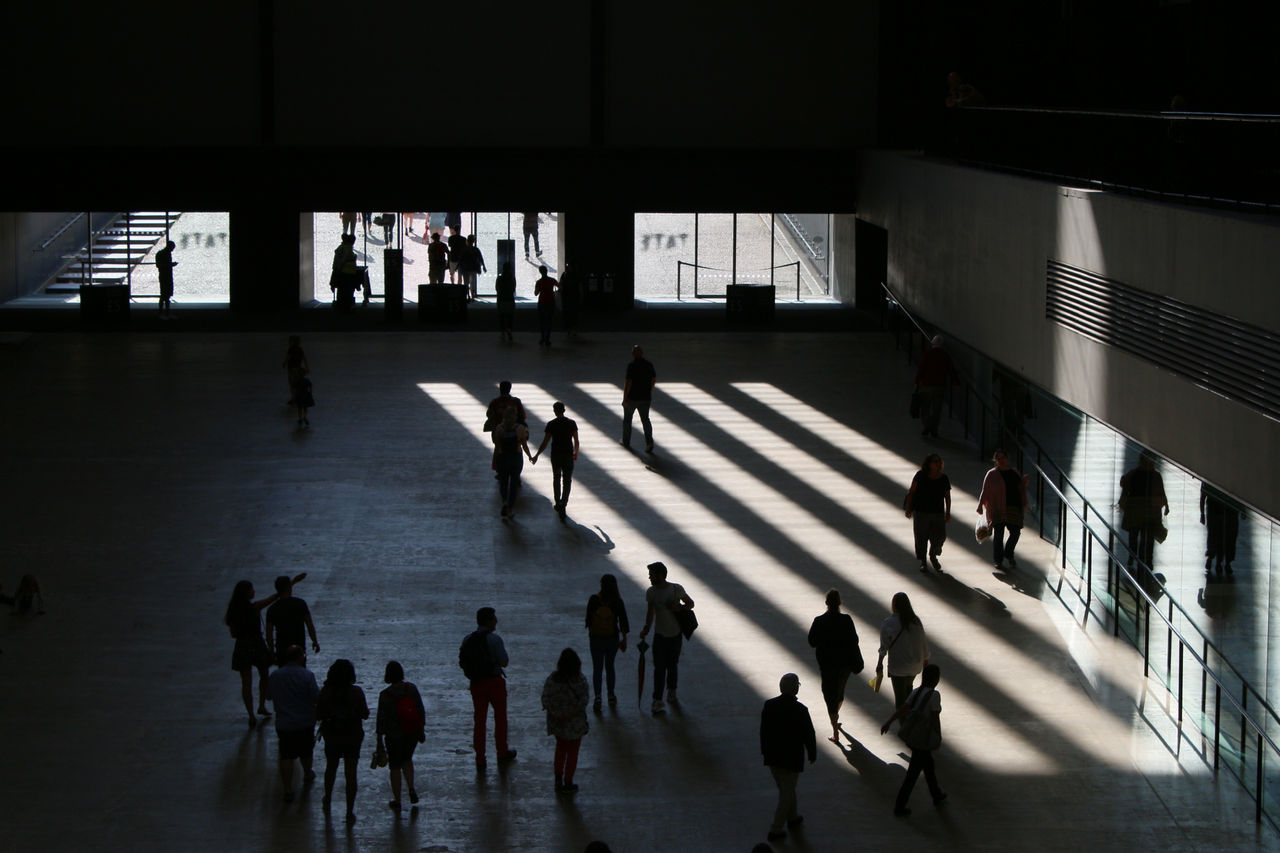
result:
<svg viewBox="0 0 1280 853"><path fill-rule="evenodd" d="M1033 532L1021 576L992 575L970 534L986 465L946 426L916 435L887 337L646 333L653 457L617 444L634 337L541 351L532 334L308 334L306 432L282 405L283 333L6 338L0 581L36 573L47 613L0 617L0 849L576 853L603 838L745 853L774 802L759 708L788 670L819 760L800 780L804 829L780 850L1280 849L1235 781L1164 747L1149 725L1164 699L1144 693L1137 656L1041 599L1053 553ZM535 438L556 398L579 421L567 524L547 462L526 465L517 519L498 517L480 426L503 378ZM955 488L942 576L916 571L900 510L933 448ZM591 719L581 792L557 798L541 681L564 646L585 653L599 575L618 575L639 625L659 558L701 621L680 707L637 710L635 652L620 656L623 702ZM265 590L297 571L321 679L348 657L372 701L394 657L421 686L419 809L387 809L369 740L355 824L326 820L317 790L282 804L274 730L246 729L220 620L237 580ZM852 679L850 738L820 740L805 631L831 585L870 661L895 592L924 620L943 672L941 811L922 784L911 817L891 815L905 751L879 734L887 688ZM477 775L456 661L483 605L511 652L520 758Z"/></svg>

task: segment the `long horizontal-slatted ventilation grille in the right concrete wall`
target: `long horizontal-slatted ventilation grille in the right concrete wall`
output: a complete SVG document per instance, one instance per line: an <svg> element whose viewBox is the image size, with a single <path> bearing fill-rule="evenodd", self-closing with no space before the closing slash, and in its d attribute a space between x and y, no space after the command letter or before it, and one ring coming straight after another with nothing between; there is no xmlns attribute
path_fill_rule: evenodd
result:
<svg viewBox="0 0 1280 853"><path fill-rule="evenodd" d="M1280 336L1050 260L1050 320L1280 420Z"/></svg>

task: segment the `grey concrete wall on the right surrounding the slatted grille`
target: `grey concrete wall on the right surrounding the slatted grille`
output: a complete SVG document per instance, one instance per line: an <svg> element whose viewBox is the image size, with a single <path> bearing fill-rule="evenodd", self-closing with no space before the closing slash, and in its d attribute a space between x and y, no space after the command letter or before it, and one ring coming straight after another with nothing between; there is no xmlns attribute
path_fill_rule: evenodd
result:
<svg viewBox="0 0 1280 853"><path fill-rule="evenodd" d="M1280 515L1280 425L1044 316L1052 257L1280 330L1280 224L869 152L858 216L929 321L1066 402Z"/></svg>

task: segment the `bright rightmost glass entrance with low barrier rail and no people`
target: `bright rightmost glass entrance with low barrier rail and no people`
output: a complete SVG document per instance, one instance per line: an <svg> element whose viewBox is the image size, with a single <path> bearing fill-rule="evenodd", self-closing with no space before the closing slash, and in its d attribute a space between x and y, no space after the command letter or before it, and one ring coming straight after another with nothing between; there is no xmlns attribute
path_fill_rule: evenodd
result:
<svg viewBox="0 0 1280 853"><path fill-rule="evenodd" d="M827 298L829 220L828 214L636 214L636 298L723 298L731 283L773 284L780 300Z"/></svg>

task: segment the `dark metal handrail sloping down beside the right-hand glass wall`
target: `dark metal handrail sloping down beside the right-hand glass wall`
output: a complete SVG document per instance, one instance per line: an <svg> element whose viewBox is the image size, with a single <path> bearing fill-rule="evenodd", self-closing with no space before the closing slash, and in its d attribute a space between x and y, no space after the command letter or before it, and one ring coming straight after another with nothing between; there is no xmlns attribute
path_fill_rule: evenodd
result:
<svg viewBox="0 0 1280 853"><path fill-rule="evenodd" d="M890 302L892 305L897 306L901 310L901 313L904 315L906 315L906 318L911 321L911 324L915 327L915 329L923 337L925 337L925 338L929 337L929 333L919 323L919 320L916 320L915 316L906 309L906 306L902 305L902 301L897 297L896 293L893 293L893 291L888 287L888 284L886 284L886 283L882 282L881 287L884 291L884 293L887 295ZM987 412L989 412L995 418L996 416L996 411L993 410L992 406L989 406L987 403L986 400L983 400L982 394L979 394L977 392L977 388L975 388L974 383L969 380L969 377L965 375L965 373L963 370L960 370L960 369L954 368L954 370L961 378L961 380L965 384L966 400L968 400L968 393L973 392L974 397L978 400L978 403ZM1204 635L1204 633L1199 629L1199 626L1190 617L1190 615L1187 613L1187 611L1183 608L1183 606L1179 605L1172 598L1172 596L1167 594L1167 589L1166 589L1165 594L1169 598L1170 608L1176 607L1178 611L1192 625L1192 628L1196 629L1196 633L1198 634L1198 637L1201 639L1201 644L1204 648L1204 657L1207 657L1208 656L1208 651L1212 649L1217 654L1217 657L1222 661L1222 663L1226 666L1226 669L1230 670L1231 675L1235 676L1239 680L1240 686L1242 686L1243 702L1236 702L1236 699L1231 694L1231 692L1226 689L1226 684L1217 676L1217 674L1213 672L1213 670L1210 667L1210 665L1204 660L1204 657L1201 657L1194 651L1194 647L1187 639L1187 637L1183 635L1181 630L1179 630L1176 626L1174 626L1171 617L1166 617L1165 613L1158 607L1156 607L1156 599L1152 598L1147 593L1147 590L1143 588L1143 585L1137 580L1137 578L1134 578L1133 574L1129 573L1128 567L1125 566L1125 561L1121 560L1121 558L1119 558L1117 555L1114 553L1112 549L1106 544L1106 542L1103 540L1102 535L1100 535L1100 533L1093 526L1091 526L1091 523L1088 520L1089 511L1092 511L1093 515L1094 515L1094 517L1101 521L1103 529L1111 537L1117 537L1116 530L1103 519L1103 515L1098 512L1097 507L1094 507L1093 503L1088 498L1084 497L1083 492L1080 492L1080 489L1074 483L1071 483L1070 478L1066 476L1066 474L1065 474L1065 471L1062 471L1061 466L1057 465L1056 462L1053 462L1053 460L1050 459L1043 452L1043 448L1041 447L1041 444L1038 442L1036 442L1034 438L1028 437L1030 439L1030 442L1036 446L1037 459L1041 460L1041 461L1048 462L1050 465L1052 465L1057 470L1057 474L1061 478L1062 483L1066 484L1066 485L1069 485L1070 489L1071 489L1071 492L1074 492L1079 497L1079 501L1084 505L1084 514L1082 514L1079 510L1076 510L1076 507L1071 503L1071 501L1068 498L1068 496L1061 489L1059 489L1057 485L1055 485L1053 476L1051 476L1048 474L1048 471L1046 471L1043 467L1041 467L1039 461L1030 462L1030 460L1028 459L1028 455L1027 455L1027 448L1021 446L1021 443L1018 441L1018 438L1014 437L1014 435L1010 435L1010 438L1012 438L1012 444L1015 447L1018 447L1018 450L1021 452L1021 455L1024 457L1024 462L1029 464L1030 467L1034 469L1034 471L1038 474L1039 482L1042 484L1047 484L1048 488L1057 496L1057 498L1061 502L1061 505L1064 507L1069 508L1071 511L1071 514L1076 516L1076 519L1080 521L1080 529L1082 529L1082 532L1087 532L1089 539L1092 542L1097 542L1102 547L1102 551L1107 555L1107 557L1111 560L1111 562L1115 565L1115 567L1119 569L1120 573L1124 575L1124 578L1126 578L1129 580L1130 585L1133 587L1133 590L1135 593L1140 594L1143 599L1146 599L1148 619L1149 619L1151 611L1155 610L1156 613L1160 616L1161 621L1164 621L1165 625L1169 628L1170 635L1178 638L1178 643L1179 643L1179 660L1181 661L1183 649L1188 649L1188 648L1192 649L1192 658L1193 658L1193 661L1196 661L1197 663L1199 663L1201 670L1202 670L1202 675L1207 676L1208 679L1212 679L1213 684L1217 688L1217 692L1216 692L1216 706L1215 706L1215 727L1219 727L1219 725L1220 725L1219 724L1219 717L1220 717L1220 711L1221 711L1221 693L1226 692L1228 701L1239 712L1242 724L1247 724L1249 727L1252 727L1257 733L1260 754L1261 754L1261 748L1262 748L1263 742L1267 745L1270 745L1270 748L1271 748L1271 751L1274 753L1280 754L1280 747L1276 745L1276 743L1270 738L1270 735L1266 734L1265 727L1245 708L1245 704L1247 704L1247 701L1248 701L1248 695L1252 693L1253 697L1257 699L1258 704L1262 707L1262 710L1266 711L1266 713L1277 725L1280 725L1280 716L1276 715L1276 711L1271 707L1271 704L1267 703L1267 701L1262 698L1262 694L1252 685L1252 683L1248 679L1245 679L1240 674L1240 671L1222 653L1222 651L1217 646L1215 646L1208 639L1208 637ZM1024 467L1025 466L1027 465L1024 464ZM1140 558L1138 558L1137 562L1140 566L1140 569L1144 569L1147 571L1147 574L1149 574L1152 578L1155 578L1155 573L1151 570L1151 566L1146 565ZM1091 566L1092 566L1092 562L1091 562ZM1117 584L1117 587L1119 587L1119 584ZM1161 587L1164 587L1164 585L1161 585ZM1114 621L1115 621L1116 631L1119 631L1119 610L1120 610L1120 603L1119 603L1119 597L1117 596L1112 596L1112 610L1114 610ZM1148 629L1148 634L1149 634L1149 629ZM1137 638L1135 638L1134 642L1137 642ZM1144 666L1144 669L1149 667L1149 649L1144 649L1143 666ZM1183 666L1180 663L1179 665L1179 678L1181 676L1181 671L1183 671ZM1181 680L1179 680L1179 722L1181 721L1181 707L1183 707ZM1243 743L1244 743L1244 739L1243 739L1243 733L1242 733L1242 748L1243 748ZM1217 748L1219 748L1217 733L1215 733L1213 745L1215 745L1215 770L1216 770L1217 768ZM1258 770L1258 772L1261 775L1261 762L1260 762L1260 770ZM1257 816L1258 816L1258 818L1261 818L1261 797L1262 797L1261 785L1257 786L1256 794L1257 794L1257 812L1258 812Z"/></svg>

